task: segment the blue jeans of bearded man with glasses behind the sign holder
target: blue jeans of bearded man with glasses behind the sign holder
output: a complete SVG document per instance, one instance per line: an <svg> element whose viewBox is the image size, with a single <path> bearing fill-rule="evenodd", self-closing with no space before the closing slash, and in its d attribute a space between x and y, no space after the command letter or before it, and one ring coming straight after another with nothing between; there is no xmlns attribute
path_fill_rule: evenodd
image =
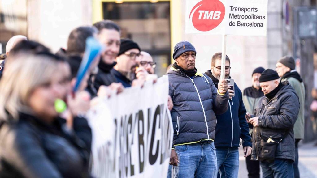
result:
<svg viewBox="0 0 317 178"><path fill-rule="evenodd" d="M239 172L239 148L218 147L218 178L237 178Z"/></svg>

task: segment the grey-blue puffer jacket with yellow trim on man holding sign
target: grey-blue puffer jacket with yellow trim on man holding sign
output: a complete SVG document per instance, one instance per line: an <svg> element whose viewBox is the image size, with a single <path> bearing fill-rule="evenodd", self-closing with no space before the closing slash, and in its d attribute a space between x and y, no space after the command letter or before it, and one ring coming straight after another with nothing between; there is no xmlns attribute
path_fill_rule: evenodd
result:
<svg viewBox="0 0 317 178"><path fill-rule="evenodd" d="M216 114L228 109L228 92L217 93L212 80L197 72L191 79L171 67L168 71L169 95L174 107L171 117L174 127L173 146L215 139ZM208 129L208 130L207 130Z"/></svg>

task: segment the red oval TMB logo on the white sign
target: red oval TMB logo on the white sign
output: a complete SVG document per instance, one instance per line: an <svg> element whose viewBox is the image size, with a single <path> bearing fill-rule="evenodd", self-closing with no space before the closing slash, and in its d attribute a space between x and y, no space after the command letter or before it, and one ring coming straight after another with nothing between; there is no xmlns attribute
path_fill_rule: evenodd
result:
<svg viewBox="0 0 317 178"><path fill-rule="evenodd" d="M216 28L223 20L225 7L219 0L202 0L197 3L191 13L195 29L199 31L210 31Z"/></svg>

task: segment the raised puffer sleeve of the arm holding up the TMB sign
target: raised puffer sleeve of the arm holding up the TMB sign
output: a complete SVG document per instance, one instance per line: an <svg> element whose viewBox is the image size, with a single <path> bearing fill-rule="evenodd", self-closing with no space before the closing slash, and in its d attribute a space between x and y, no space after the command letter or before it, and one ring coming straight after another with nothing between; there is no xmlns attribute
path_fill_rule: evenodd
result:
<svg viewBox="0 0 317 178"><path fill-rule="evenodd" d="M209 81L212 92L212 110L217 115L225 113L228 110L229 93L226 92L223 95L219 94L214 82L208 76L206 76L206 78Z"/></svg>

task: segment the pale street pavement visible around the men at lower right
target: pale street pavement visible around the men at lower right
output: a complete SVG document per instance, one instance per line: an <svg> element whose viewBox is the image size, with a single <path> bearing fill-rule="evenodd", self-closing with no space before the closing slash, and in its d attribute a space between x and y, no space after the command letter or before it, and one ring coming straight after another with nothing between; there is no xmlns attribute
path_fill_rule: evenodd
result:
<svg viewBox="0 0 317 178"><path fill-rule="evenodd" d="M317 146L314 146L314 143L316 142L300 143L299 145L298 166L300 169L301 178L317 178ZM248 171L242 147L240 147L239 153L239 178L248 178Z"/></svg>

